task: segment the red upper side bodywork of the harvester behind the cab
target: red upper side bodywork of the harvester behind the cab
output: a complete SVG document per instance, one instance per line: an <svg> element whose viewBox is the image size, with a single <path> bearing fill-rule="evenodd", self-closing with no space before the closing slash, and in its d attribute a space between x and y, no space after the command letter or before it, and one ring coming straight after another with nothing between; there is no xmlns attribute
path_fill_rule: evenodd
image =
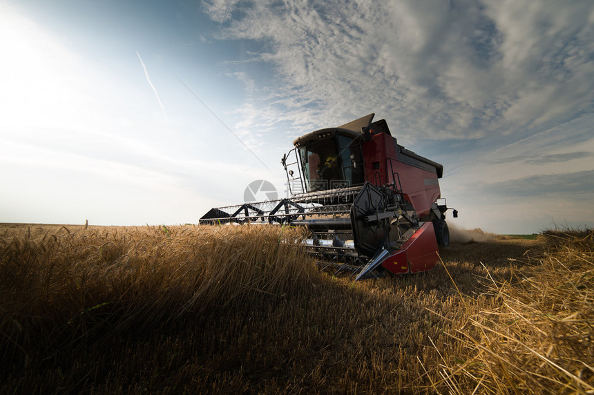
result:
<svg viewBox="0 0 594 395"><path fill-rule="evenodd" d="M378 133L363 142L366 181L377 186L392 184L392 173L398 173L396 183L400 181L404 198L422 217L441 196L437 174L401 162L398 155L396 139L387 133Z"/></svg>

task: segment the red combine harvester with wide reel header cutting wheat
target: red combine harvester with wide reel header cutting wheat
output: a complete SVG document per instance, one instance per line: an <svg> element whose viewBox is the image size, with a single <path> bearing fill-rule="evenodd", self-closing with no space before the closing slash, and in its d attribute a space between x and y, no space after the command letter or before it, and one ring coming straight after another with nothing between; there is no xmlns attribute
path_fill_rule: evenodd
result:
<svg viewBox="0 0 594 395"><path fill-rule="evenodd" d="M432 269L438 245L450 242L438 182L443 166L397 144L385 119L373 117L293 142L282 157L293 198L211 209L200 224L307 227L307 248L338 271L354 271L356 280L376 277L381 268Z"/></svg>

